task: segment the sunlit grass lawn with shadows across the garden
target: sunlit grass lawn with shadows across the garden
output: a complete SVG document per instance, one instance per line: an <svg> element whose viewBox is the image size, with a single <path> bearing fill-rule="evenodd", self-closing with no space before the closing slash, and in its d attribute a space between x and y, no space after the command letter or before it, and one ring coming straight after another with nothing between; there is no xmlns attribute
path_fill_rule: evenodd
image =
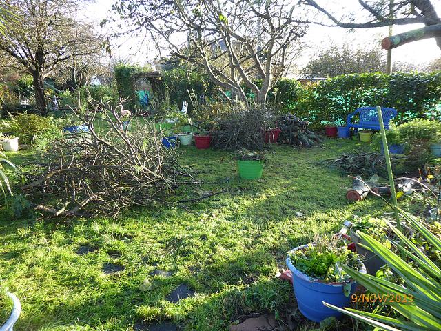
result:
<svg viewBox="0 0 441 331"><path fill-rule="evenodd" d="M201 190L228 192L118 219L0 215L1 288L23 306L14 330L147 330L159 321L227 330L259 313L284 321L294 298L276 277L285 252L315 232L338 232L353 214L389 211L372 196L347 201L351 179L318 164L360 146L274 146L257 181L240 179L227 152L180 148L183 165L205 172ZM179 285L194 295L172 302Z"/></svg>

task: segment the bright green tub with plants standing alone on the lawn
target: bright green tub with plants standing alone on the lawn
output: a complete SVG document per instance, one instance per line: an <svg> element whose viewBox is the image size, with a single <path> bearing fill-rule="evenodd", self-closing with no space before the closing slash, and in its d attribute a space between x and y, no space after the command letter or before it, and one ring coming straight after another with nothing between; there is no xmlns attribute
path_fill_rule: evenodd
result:
<svg viewBox="0 0 441 331"><path fill-rule="evenodd" d="M237 172L241 179L260 179L262 177L263 165L267 151L250 152L241 148L234 153L237 160Z"/></svg>

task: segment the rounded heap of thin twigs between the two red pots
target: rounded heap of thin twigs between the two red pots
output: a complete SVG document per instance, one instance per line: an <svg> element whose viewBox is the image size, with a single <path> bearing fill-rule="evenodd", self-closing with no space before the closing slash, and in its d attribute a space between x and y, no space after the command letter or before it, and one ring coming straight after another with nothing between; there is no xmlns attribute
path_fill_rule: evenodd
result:
<svg viewBox="0 0 441 331"><path fill-rule="evenodd" d="M211 146L220 150L264 150L263 132L271 127L271 121L271 114L263 108L227 112L211 133Z"/></svg>

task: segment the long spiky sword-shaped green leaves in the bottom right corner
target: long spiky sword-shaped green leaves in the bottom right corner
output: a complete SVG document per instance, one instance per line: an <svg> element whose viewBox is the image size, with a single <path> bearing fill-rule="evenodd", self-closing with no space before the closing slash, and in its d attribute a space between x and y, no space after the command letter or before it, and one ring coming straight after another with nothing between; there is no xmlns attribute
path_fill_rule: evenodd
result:
<svg viewBox="0 0 441 331"><path fill-rule="evenodd" d="M416 217L397 208L403 221L412 225L416 233L427 240L427 245L438 252L433 261L427 257L420 247L414 245L404 233L389 224L393 232L400 237L401 244L396 244L396 251L384 247L368 234L360 233L366 245L389 265L402 279L404 286L378 277L354 272L343 267L353 279L365 286L383 305L395 310L397 318L385 314L373 314L347 308L340 310L351 317L365 321L383 330L440 330L441 329L441 241L429 231ZM400 252L400 254L397 254ZM404 317L405 319L403 319Z"/></svg>

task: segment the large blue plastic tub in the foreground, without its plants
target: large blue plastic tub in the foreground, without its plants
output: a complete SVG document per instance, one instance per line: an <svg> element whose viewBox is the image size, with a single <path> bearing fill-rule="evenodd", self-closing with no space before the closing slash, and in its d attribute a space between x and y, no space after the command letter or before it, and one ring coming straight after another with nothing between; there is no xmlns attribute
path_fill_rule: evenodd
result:
<svg viewBox="0 0 441 331"><path fill-rule="evenodd" d="M302 245L294 248L294 250L302 250L307 248L308 245ZM291 263L291 257L289 252L286 259L287 266L292 273L292 283L294 287L294 295L298 303L298 309L307 319L320 323L328 317L336 317L340 319L342 313L337 310L331 309L323 305L323 302L335 305L339 308L345 308L351 301L351 295L356 292L358 283L350 280L347 283L333 283L319 281L318 279L311 278L296 269ZM360 270L362 273L366 273L365 265ZM346 296L344 287L347 284L351 285L351 293Z"/></svg>

